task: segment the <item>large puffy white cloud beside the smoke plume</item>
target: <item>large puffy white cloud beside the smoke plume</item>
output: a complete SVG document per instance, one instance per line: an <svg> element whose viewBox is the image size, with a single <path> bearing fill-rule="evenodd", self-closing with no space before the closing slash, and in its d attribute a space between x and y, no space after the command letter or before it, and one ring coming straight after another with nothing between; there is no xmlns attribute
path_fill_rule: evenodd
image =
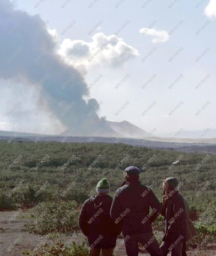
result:
<svg viewBox="0 0 216 256"><path fill-rule="evenodd" d="M100 47L102 50L99 50ZM84 65L86 68L92 65L116 67L139 55L138 50L125 43L122 38L115 35L105 36L103 33L96 33L90 43L64 39L58 53L68 64L75 67ZM115 61L120 55L118 61ZM89 58L91 61L88 61Z"/></svg>

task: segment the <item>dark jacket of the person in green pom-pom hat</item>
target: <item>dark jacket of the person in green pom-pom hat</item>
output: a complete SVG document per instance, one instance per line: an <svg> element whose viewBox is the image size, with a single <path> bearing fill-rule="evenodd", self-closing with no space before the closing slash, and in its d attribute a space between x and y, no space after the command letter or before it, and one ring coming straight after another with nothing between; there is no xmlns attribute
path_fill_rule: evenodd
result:
<svg viewBox="0 0 216 256"><path fill-rule="evenodd" d="M103 239L94 244L95 248L113 248L117 235L121 233L121 226L116 224L110 216L113 198L106 194L99 194L85 200L79 215L79 226L87 236L89 246L100 236Z"/></svg>

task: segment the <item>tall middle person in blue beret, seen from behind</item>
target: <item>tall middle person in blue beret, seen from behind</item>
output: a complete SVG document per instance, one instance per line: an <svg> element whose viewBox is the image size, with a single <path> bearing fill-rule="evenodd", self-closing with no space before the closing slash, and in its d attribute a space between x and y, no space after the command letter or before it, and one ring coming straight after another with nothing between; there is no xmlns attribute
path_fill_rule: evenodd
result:
<svg viewBox="0 0 216 256"><path fill-rule="evenodd" d="M116 190L110 215L115 223L122 224L127 255L138 255L140 241L150 255L162 256L151 227L151 222L161 213L162 206L152 190L139 181L140 170L137 167L129 166L125 172L127 182Z"/></svg>

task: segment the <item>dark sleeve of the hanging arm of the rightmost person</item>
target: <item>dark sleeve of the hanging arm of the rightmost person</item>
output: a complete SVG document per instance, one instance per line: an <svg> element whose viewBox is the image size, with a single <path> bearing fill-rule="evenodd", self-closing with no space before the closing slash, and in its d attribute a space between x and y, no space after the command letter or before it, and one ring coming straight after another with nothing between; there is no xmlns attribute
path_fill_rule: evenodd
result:
<svg viewBox="0 0 216 256"><path fill-rule="evenodd" d="M168 226L168 233L175 233L176 230L182 227L185 220L185 210L182 201L178 200L173 203L174 218L170 219L170 225Z"/></svg>

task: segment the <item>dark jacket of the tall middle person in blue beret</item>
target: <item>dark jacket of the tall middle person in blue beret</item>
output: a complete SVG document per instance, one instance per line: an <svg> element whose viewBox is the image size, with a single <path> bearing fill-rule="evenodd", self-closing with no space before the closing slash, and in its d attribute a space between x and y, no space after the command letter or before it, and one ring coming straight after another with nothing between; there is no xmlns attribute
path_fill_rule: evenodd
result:
<svg viewBox="0 0 216 256"><path fill-rule="evenodd" d="M153 213L149 214L150 207ZM123 234L137 234L151 232L151 222L161 210L152 190L135 181L116 190L110 214L116 223L122 223Z"/></svg>

